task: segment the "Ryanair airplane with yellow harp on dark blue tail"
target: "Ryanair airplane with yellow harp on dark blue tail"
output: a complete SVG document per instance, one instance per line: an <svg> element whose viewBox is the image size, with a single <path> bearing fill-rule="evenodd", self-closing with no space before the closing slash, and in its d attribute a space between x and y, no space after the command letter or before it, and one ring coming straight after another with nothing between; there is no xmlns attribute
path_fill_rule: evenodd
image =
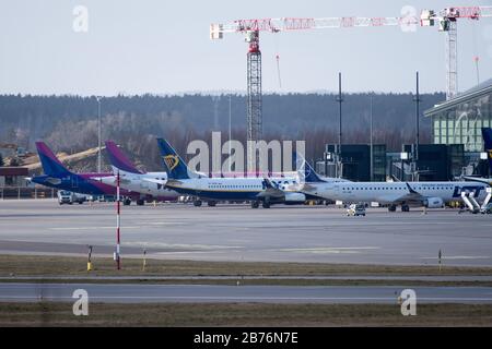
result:
<svg viewBox="0 0 492 349"><path fill-rule="evenodd" d="M199 197L196 206L207 201L249 201L251 208L269 208L272 204L300 204L309 195L291 188L298 185L297 176L282 178L206 178L191 171L176 151L163 139L157 139L161 156L167 170L166 186L184 195Z"/></svg>

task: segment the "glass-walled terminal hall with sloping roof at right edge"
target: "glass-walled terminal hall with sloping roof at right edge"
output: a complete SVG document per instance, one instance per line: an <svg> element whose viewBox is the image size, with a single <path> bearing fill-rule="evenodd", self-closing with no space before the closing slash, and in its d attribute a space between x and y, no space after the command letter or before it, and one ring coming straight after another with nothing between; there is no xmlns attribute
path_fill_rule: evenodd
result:
<svg viewBox="0 0 492 349"><path fill-rule="evenodd" d="M462 144L466 153L483 152L482 128L492 125L492 79L425 110L434 144Z"/></svg>

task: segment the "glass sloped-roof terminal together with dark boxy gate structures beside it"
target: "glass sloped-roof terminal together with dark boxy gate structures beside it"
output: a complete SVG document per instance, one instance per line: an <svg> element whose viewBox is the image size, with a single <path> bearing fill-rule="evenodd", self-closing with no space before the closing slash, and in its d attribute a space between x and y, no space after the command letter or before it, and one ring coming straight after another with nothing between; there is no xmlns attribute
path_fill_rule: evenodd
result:
<svg viewBox="0 0 492 349"><path fill-rule="evenodd" d="M388 178L448 181L462 174L490 176L488 161L482 157L482 128L492 127L492 79L425 110L424 117L431 118L432 144L419 146L418 177L412 172L411 158L403 161L400 153L386 153L384 144L374 145L372 167L368 145L343 144L340 154L343 178L353 181L385 181ZM326 145L323 160L316 164L318 172L335 177L335 163L327 160L326 155L336 153L336 147ZM401 154L413 154L413 147L403 144Z"/></svg>

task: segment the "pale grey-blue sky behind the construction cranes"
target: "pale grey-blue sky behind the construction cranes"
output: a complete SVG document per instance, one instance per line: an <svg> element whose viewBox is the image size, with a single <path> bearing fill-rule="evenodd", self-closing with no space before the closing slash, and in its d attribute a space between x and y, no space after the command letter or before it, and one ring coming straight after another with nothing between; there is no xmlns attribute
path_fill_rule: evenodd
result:
<svg viewBox="0 0 492 349"><path fill-rule="evenodd" d="M400 16L405 5L492 5L492 0L0 0L0 93L174 94L245 91L241 34L209 39L210 23L257 17ZM87 32L73 9L89 11ZM423 92L445 89L445 35L436 27L302 31L261 35L263 91ZM492 19L458 23L458 87L492 77ZM277 74L280 56L282 87Z"/></svg>

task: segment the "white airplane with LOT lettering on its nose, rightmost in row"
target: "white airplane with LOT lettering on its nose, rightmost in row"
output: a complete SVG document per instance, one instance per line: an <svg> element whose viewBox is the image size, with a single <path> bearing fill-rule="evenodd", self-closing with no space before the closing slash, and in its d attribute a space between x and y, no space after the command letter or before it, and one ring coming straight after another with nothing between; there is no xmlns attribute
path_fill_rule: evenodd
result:
<svg viewBox="0 0 492 349"><path fill-rule="evenodd" d="M305 172L313 171L308 168ZM314 179L314 180L313 180ZM316 177L306 177L301 191L305 194L344 203L378 202L387 204L388 210L401 205L402 212L410 206L429 208L444 207L445 203L460 201L462 193L467 197L484 200L488 195L485 183L459 182L323 182Z"/></svg>

